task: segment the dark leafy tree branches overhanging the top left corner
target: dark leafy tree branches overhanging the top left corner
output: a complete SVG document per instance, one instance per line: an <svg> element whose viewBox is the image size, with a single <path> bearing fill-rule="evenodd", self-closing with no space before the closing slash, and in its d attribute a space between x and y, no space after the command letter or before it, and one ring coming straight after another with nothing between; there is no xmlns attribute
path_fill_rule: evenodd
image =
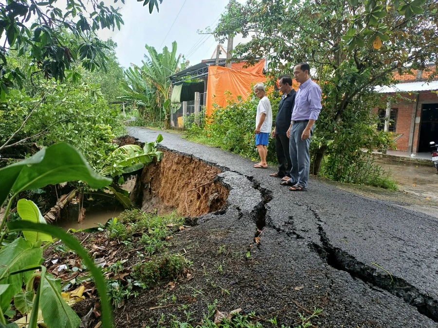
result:
<svg viewBox="0 0 438 328"><path fill-rule="evenodd" d="M118 0L114 0L116 3ZM125 3L124 0L121 0ZM160 3L163 0L160 0ZM106 6L103 1L89 0L92 12L82 0L67 0L64 10L60 0L8 0L0 2L0 37L5 35L5 43L0 46L0 94L2 100L9 88L21 86L24 78L20 69L8 65L6 54L9 50L18 51L23 56L27 51L38 69L47 78L62 81L66 69L71 69L73 61L79 58L86 69L105 68L105 45L95 37L99 29L120 29L123 24L118 8ZM156 7L158 0L145 0L149 12ZM36 19L30 27L26 24ZM77 40L66 39L62 30L68 29Z"/></svg>

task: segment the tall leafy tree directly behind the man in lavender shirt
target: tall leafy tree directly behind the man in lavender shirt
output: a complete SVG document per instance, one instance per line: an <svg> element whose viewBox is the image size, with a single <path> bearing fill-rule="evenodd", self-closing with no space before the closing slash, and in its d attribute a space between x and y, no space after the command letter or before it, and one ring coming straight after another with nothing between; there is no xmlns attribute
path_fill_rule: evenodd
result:
<svg viewBox="0 0 438 328"><path fill-rule="evenodd" d="M248 0L229 7L216 33L254 33L233 54L250 62L267 56L274 75L310 63L323 90L313 173L329 155L346 174L362 148L387 146L388 136L370 128L375 87L390 84L394 71L436 60L437 12L435 0Z"/></svg>

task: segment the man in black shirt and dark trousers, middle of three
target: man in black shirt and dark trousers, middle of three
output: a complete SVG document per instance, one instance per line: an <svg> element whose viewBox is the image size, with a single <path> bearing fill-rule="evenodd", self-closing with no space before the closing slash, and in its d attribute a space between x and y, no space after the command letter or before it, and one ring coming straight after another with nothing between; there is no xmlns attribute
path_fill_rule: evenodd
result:
<svg viewBox="0 0 438 328"><path fill-rule="evenodd" d="M270 174L269 176L289 180L292 162L291 156L289 155L289 138L287 132L291 125L292 109L295 103L295 90L292 88L292 77L290 75L280 76L278 86L283 96L281 97L278 113L275 118L275 128L272 131L272 136L275 138L278 172Z"/></svg>

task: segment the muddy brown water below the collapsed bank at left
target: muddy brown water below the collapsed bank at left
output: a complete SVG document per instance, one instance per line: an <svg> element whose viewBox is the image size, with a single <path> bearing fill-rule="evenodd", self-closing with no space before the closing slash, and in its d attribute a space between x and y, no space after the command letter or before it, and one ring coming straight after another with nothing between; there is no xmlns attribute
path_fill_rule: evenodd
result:
<svg viewBox="0 0 438 328"><path fill-rule="evenodd" d="M61 228L68 230L68 229L88 229L88 228L92 228L92 227L96 227L100 224L105 224L107 223L108 220L110 220L111 218L117 216L120 214L120 212L122 212L123 209L117 208L117 207L112 207L112 208L107 208L107 209L103 209L103 208L98 208L98 209L93 209L91 208L89 211L86 212L85 215L85 219L82 222L77 222L76 220L74 221L62 221L62 219L60 220L58 226L60 226Z"/></svg>

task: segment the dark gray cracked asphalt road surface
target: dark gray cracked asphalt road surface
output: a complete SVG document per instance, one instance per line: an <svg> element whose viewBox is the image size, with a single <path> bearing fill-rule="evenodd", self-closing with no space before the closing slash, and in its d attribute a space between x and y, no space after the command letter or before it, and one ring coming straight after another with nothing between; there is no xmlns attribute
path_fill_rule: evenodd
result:
<svg viewBox="0 0 438 328"><path fill-rule="evenodd" d="M248 187L242 188L242 176L262 195L269 194L263 213L264 241L254 255L265 259L265 264L279 258L276 267L286 276L293 273L291 268L306 268L298 279L316 279L311 284L325 286L337 299L327 310L333 325L328 322L326 327L338 327L335 323L340 322L345 326L339 327L359 327L361 320L379 323L370 327L438 327L437 217L312 178L309 190L292 192L268 176L275 168L255 169L248 159L178 134L138 127L128 132L148 142L161 133L165 149L219 167L224 172L219 176L225 174L222 179L232 190L228 208L237 208L243 218L251 217L260 201ZM227 177L229 171L237 175ZM227 210L224 215L233 213ZM263 276L271 266L261 265L259 270ZM324 275L309 274L312 271Z"/></svg>

